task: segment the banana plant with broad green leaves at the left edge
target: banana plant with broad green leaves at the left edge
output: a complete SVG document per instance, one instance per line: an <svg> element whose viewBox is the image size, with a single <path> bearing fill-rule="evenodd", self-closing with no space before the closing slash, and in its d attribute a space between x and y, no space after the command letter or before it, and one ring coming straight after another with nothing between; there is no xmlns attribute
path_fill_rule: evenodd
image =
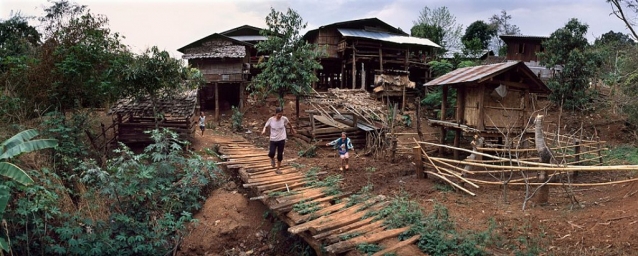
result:
<svg viewBox="0 0 638 256"><path fill-rule="evenodd" d="M22 131L0 144L0 175L12 179L22 185L28 186L33 179L19 166L9 162L11 158L22 153L28 153L45 148L53 148L58 145L54 139L35 139L38 136L35 129ZM9 203L9 187L0 184L0 218ZM9 251L9 244L4 238L0 238L0 248Z"/></svg>

